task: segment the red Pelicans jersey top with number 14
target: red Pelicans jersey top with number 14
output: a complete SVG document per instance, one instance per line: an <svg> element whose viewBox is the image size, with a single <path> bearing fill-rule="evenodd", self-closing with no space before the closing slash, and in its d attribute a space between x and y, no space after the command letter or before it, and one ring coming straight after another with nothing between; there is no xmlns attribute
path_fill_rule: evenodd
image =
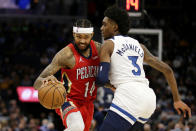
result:
<svg viewBox="0 0 196 131"><path fill-rule="evenodd" d="M62 81L67 90L67 99L93 101L97 95L95 79L99 68L99 56L94 41L90 42L90 56L81 55L74 44L70 43L75 57L72 69L61 69Z"/></svg>

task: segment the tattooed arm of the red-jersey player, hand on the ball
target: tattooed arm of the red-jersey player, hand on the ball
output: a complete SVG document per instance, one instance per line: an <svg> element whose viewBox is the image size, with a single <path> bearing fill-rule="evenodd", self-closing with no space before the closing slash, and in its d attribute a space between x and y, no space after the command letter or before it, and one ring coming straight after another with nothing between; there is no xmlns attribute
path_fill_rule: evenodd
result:
<svg viewBox="0 0 196 131"><path fill-rule="evenodd" d="M69 47L65 47L60 50L53 58L52 62L42 71L39 77L35 80L33 87L39 89L43 84L47 84L48 81L59 82L53 75L59 71L62 67L69 66L72 58L72 52Z"/></svg>

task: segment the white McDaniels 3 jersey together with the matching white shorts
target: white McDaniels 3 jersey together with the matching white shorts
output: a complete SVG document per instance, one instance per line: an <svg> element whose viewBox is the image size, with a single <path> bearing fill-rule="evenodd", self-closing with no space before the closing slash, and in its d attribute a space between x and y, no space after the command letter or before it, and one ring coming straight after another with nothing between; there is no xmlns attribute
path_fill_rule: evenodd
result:
<svg viewBox="0 0 196 131"><path fill-rule="evenodd" d="M131 37L114 36L111 56L110 82L116 90L110 106L132 125L148 121L156 108L156 96L149 88L143 69L144 51Z"/></svg>

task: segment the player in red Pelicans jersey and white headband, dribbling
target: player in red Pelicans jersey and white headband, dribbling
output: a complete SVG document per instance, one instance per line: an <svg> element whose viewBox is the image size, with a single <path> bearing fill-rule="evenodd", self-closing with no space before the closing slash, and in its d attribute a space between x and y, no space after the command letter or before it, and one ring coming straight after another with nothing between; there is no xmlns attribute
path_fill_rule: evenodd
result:
<svg viewBox="0 0 196 131"><path fill-rule="evenodd" d="M95 42L90 21L81 19L73 27L74 43L60 50L34 83L39 89L48 81L59 82L53 75L61 69L61 82L67 90L67 101L56 112L65 131L89 131L93 119L97 87L100 43Z"/></svg>

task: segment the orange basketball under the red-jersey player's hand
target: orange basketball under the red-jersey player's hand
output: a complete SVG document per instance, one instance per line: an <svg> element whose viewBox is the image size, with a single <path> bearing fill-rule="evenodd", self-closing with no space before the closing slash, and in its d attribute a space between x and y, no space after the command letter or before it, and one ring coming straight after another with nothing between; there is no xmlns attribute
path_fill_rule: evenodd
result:
<svg viewBox="0 0 196 131"><path fill-rule="evenodd" d="M47 109L59 108L66 99L66 89L62 84L49 83L38 90L38 99L42 106Z"/></svg>

